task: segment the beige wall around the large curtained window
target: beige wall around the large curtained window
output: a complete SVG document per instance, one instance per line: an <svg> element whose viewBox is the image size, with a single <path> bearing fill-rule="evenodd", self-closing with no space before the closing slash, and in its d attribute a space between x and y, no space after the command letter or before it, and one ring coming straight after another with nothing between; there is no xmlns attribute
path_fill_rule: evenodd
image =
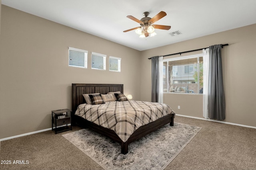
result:
<svg viewBox="0 0 256 170"><path fill-rule="evenodd" d="M256 24L142 51L140 60L145 69L141 71L142 85L140 86L140 99L146 101L150 101L151 99L151 74L148 74L151 71L149 57L226 43L229 46L225 46L222 49L224 90L226 96L225 121L256 127ZM199 54L201 51L185 53L182 56L196 53ZM171 57L177 56L180 55ZM164 103L172 107L177 114L203 118L201 95L164 94ZM178 106L180 106L180 109L178 109Z"/></svg>

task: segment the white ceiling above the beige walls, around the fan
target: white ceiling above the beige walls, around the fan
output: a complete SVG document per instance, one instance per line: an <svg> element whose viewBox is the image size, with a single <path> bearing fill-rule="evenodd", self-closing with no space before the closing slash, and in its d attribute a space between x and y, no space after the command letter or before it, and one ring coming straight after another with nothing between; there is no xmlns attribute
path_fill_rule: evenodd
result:
<svg viewBox="0 0 256 170"><path fill-rule="evenodd" d="M256 0L2 0L2 4L114 41L139 51L202 37L256 23ZM143 12L170 30L156 29L154 37L139 38L135 31ZM182 34L172 37L171 32ZM228 43L228 42L223 42Z"/></svg>

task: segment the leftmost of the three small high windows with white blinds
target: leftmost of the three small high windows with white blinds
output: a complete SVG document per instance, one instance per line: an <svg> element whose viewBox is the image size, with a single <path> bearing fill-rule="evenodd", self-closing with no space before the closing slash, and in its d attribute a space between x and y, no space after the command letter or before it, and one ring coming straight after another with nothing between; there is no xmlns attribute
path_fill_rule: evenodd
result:
<svg viewBox="0 0 256 170"><path fill-rule="evenodd" d="M88 51L68 48L68 66L87 68Z"/></svg>

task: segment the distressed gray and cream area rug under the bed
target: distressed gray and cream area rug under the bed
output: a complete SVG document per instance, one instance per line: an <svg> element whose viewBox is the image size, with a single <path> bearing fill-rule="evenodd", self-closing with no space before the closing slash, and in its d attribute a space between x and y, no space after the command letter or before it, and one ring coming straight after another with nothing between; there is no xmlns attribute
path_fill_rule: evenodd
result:
<svg viewBox="0 0 256 170"><path fill-rule="evenodd" d="M62 135L106 170L163 170L200 131L201 127L174 123L165 125L128 146L121 154L120 143L90 129Z"/></svg>

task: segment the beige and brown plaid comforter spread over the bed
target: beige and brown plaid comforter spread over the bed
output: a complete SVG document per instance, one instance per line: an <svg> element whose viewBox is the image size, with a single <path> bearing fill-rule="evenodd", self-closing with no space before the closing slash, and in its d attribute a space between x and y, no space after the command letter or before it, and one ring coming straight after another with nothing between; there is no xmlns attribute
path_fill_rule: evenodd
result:
<svg viewBox="0 0 256 170"><path fill-rule="evenodd" d="M106 104L81 104L75 115L114 130L124 142L136 129L168 114L175 114L166 104L125 101Z"/></svg>

